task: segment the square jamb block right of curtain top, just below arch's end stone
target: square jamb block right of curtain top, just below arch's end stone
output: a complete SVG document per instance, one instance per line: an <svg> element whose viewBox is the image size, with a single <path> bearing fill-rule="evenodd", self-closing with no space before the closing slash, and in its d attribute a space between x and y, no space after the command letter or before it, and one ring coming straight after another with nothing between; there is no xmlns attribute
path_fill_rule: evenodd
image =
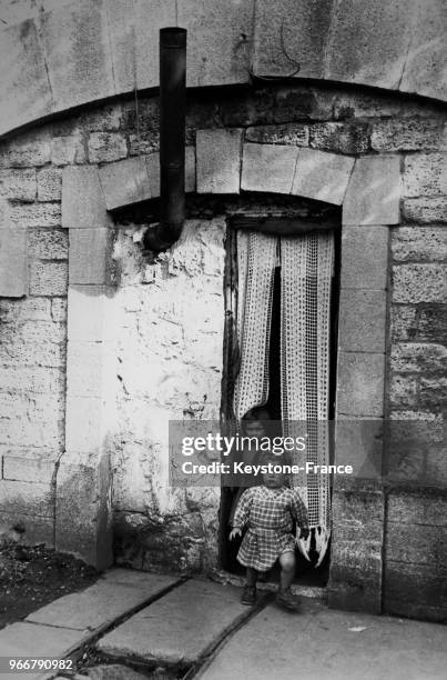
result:
<svg viewBox="0 0 447 680"><path fill-rule="evenodd" d="M387 227L343 227L341 287L385 290L388 276ZM370 253L374 252L374 258Z"/></svg>

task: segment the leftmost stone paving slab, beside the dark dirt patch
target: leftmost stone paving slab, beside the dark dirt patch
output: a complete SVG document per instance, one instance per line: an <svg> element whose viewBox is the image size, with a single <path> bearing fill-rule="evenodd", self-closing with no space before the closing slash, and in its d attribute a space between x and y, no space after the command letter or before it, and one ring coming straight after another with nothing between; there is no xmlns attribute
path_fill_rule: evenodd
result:
<svg viewBox="0 0 447 680"><path fill-rule="evenodd" d="M87 590L64 596L38 609L26 621L74 630L95 630L112 623L179 580L155 573L144 573L143 577L138 573L131 571L132 576L124 577L109 572L105 579L100 579ZM113 580L115 578L128 581L119 582Z"/></svg>

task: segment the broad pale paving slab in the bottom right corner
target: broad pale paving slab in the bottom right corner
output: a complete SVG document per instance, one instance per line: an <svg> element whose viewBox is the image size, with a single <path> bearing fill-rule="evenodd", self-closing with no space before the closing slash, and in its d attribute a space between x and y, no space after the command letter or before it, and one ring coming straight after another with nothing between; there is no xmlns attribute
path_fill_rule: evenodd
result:
<svg viewBox="0 0 447 680"><path fill-rule="evenodd" d="M444 680L446 648L445 628L436 623L335 611L315 601L298 614L271 604L197 678Z"/></svg>

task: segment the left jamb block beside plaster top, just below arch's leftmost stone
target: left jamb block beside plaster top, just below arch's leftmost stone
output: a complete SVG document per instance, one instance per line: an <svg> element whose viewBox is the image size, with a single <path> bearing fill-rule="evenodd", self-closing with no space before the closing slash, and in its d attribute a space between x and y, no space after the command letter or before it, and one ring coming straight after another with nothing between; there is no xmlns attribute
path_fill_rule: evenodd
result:
<svg viewBox="0 0 447 680"><path fill-rule="evenodd" d="M111 281L113 231L108 227L70 230L70 286Z"/></svg>

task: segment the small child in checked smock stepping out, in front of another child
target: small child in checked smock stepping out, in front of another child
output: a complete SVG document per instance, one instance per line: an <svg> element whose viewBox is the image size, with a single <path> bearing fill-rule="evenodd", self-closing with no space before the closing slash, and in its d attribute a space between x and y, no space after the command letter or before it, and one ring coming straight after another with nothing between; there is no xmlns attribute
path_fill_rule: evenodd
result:
<svg viewBox="0 0 447 680"><path fill-rule="evenodd" d="M265 457L262 463L278 464L277 457ZM281 566L281 583L276 601L282 607L296 610L297 602L291 592L295 576L295 542L292 534L295 520L301 538L307 538L307 511L297 489L286 486L283 473L263 474L263 484L252 487L241 496L232 521L230 540L244 538L237 560L246 568L246 586L242 592L243 604L256 601L256 581L260 572L267 571L276 560Z"/></svg>

